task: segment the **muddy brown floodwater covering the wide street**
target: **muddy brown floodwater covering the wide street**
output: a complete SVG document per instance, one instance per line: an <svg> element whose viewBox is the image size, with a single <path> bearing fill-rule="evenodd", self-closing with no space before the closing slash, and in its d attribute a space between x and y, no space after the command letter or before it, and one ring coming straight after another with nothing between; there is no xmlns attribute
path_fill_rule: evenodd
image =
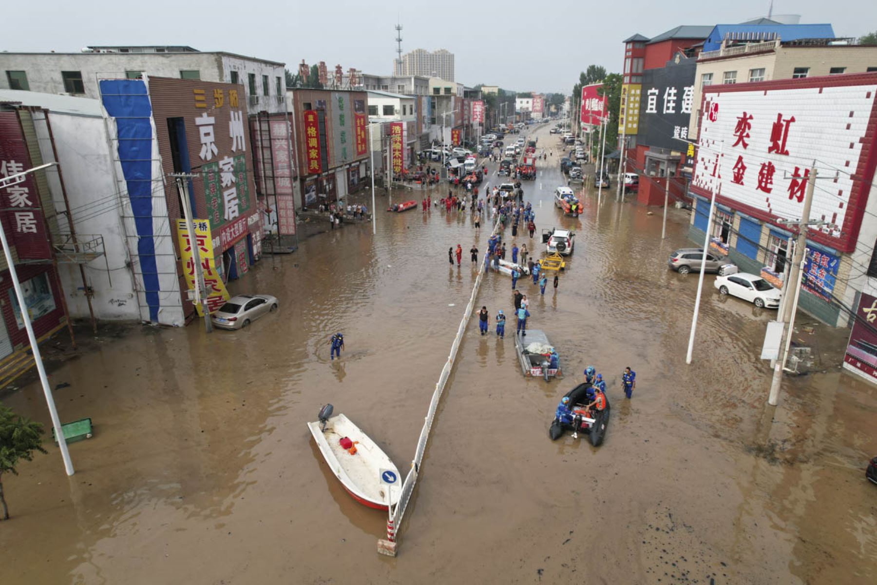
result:
<svg viewBox="0 0 877 585"><path fill-rule="evenodd" d="M845 332L824 332L825 371L787 379L774 410L758 359L774 312L718 296L709 275L686 366L697 282L666 259L691 246L688 211L670 210L665 240L660 210L618 204L615 189L563 218L559 155L524 182L538 230L517 241L541 250L542 228L570 227L575 253L556 294L518 284L566 378L525 380L511 336L469 323L396 559L375 552L384 514L346 495L305 423L331 402L407 470L474 282L467 251L486 249L468 213L378 211L376 237L351 225L304 238L232 285L280 299L247 331L143 327L55 369L70 384L61 418L92 417L95 436L70 446L71 478L53 446L4 477L0 582L875 582L863 467L877 393L836 367ZM447 262L458 243L460 268ZM510 311L510 279L488 275L481 304L491 324ZM336 331L346 352L330 361ZM553 410L589 364L608 379L606 442L552 442ZM4 403L49 423L39 384Z"/></svg>

